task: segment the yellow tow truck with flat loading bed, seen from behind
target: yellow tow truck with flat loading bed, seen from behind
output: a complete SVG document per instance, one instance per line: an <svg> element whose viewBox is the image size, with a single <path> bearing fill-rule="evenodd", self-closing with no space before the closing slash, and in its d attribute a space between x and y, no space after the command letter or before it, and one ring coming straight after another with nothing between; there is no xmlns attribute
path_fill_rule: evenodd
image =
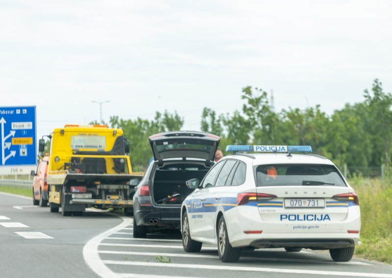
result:
<svg viewBox="0 0 392 278"><path fill-rule="evenodd" d="M124 209L133 214L132 196L143 173L133 173L123 130L106 125L65 125L49 136L47 174L50 212L80 216L86 207ZM39 151L45 140L39 140Z"/></svg>

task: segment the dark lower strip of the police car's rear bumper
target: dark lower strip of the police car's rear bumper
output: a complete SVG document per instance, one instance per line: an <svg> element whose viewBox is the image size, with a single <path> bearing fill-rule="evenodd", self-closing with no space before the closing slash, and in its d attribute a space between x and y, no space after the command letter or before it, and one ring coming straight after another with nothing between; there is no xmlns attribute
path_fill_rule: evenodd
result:
<svg viewBox="0 0 392 278"><path fill-rule="evenodd" d="M282 247L301 247L312 250L335 249L352 247L355 245L354 239L349 238L294 238L294 239L256 239L250 242L249 246L255 248L282 248Z"/></svg>

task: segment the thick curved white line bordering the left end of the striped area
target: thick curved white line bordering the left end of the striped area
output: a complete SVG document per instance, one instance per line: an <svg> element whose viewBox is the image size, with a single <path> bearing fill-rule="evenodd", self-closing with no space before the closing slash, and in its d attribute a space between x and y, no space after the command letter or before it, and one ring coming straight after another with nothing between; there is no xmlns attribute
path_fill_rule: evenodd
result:
<svg viewBox="0 0 392 278"><path fill-rule="evenodd" d="M114 214L112 214L114 215ZM113 271L111 271L100 259L99 254L98 254L98 246L100 242L110 236L113 232L118 232L124 227L129 226L129 224L132 221L132 218L129 217L122 217L115 215L117 217L120 217L123 219L123 223L120 225L106 231L102 232L98 236L92 238L87 244L83 247L83 258L86 264L91 268L92 271L94 271L99 277L102 278L119 278L120 276Z"/></svg>

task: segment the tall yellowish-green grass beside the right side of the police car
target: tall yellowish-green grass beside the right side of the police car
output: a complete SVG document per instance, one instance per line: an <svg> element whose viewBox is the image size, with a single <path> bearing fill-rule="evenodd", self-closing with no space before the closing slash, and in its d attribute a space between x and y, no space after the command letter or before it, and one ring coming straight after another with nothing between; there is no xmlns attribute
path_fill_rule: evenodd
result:
<svg viewBox="0 0 392 278"><path fill-rule="evenodd" d="M392 184L378 179L348 181L359 197L361 245L355 254L392 264Z"/></svg>

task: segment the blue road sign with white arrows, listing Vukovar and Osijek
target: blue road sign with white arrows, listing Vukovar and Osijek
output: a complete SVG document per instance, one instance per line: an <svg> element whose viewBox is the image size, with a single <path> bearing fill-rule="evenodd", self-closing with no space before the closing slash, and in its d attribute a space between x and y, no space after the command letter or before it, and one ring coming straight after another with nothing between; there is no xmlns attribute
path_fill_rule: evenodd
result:
<svg viewBox="0 0 392 278"><path fill-rule="evenodd" d="M1 166L36 165L35 106L0 107Z"/></svg>

